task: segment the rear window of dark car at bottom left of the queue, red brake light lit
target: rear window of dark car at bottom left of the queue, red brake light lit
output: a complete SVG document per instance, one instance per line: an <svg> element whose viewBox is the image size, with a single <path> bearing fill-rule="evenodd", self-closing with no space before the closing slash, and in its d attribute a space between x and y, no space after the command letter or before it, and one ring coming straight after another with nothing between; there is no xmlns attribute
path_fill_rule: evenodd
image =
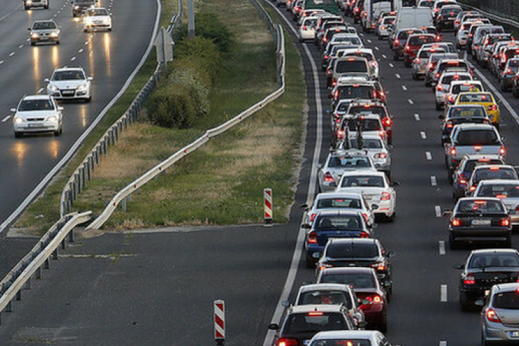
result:
<svg viewBox="0 0 519 346"><path fill-rule="evenodd" d="M313 312L313 311L312 311ZM283 326L283 334L311 333L313 331L348 330L342 313L291 313Z"/></svg>

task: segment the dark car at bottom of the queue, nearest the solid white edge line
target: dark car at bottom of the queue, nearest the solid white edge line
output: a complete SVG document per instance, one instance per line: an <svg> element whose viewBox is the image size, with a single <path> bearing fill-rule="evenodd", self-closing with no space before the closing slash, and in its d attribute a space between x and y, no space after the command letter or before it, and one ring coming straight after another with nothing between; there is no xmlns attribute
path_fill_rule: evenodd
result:
<svg viewBox="0 0 519 346"><path fill-rule="evenodd" d="M345 307L333 304L299 305L286 311L283 324L268 325L275 330L275 346L303 346L319 331L356 329Z"/></svg>

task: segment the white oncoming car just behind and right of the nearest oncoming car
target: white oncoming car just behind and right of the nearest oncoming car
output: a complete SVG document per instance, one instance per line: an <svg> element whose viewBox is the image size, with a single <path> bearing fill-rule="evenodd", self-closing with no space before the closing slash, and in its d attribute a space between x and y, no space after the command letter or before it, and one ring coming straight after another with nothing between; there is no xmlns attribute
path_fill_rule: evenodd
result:
<svg viewBox="0 0 519 346"><path fill-rule="evenodd" d="M46 78L47 93L56 100L92 100L93 78L86 76L80 66L63 66L54 70L51 78Z"/></svg>

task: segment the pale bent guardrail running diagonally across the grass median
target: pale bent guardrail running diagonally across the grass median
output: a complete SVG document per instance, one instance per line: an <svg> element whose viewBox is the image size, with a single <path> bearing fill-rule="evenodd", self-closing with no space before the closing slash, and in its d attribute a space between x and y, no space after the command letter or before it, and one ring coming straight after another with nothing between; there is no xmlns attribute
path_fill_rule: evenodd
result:
<svg viewBox="0 0 519 346"><path fill-rule="evenodd" d="M272 26L272 33L273 37L275 39L276 44L276 57L277 57L277 74L278 74L278 81L279 81L279 88L268 95L266 98L261 100L260 102L257 102L252 107L246 109L242 113L239 113L239 115L235 116L234 118L224 122L224 124L219 125L218 127L215 127L213 129L210 129L206 131L203 136L199 137L197 140L195 140L193 143L186 145L182 149L180 149L178 152L172 154L169 158L167 158L165 161L159 163L155 167L153 167L151 170L143 174L143 176L140 176L138 179L127 185L125 188L120 190L108 203L107 207L104 208L101 215L97 217L89 226L87 226L87 229L98 229L100 228L110 217L110 215L116 210L119 203L122 202L122 208L125 210L127 201L131 200L131 194L138 191L138 189L145 185L148 181L154 179L159 174L162 174L167 170L168 167L179 161L184 156L187 156L191 152L194 152L199 147L207 143L211 138L218 136L219 134L223 134L228 129L231 129L235 125L239 124L249 116L253 115L260 109L263 109L267 104L273 102L277 98L279 98L283 93L285 89L285 83L284 83L284 75L285 75L285 50L284 50L284 33L283 28L280 24L273 24L270 17L268 17L268 13L264 10L264 8L258 3L256 0L251 0L252 3L255 4L258 8L260 8L260 12L262 12L262 15L266 18L268 18L268 25Z"/></svg>

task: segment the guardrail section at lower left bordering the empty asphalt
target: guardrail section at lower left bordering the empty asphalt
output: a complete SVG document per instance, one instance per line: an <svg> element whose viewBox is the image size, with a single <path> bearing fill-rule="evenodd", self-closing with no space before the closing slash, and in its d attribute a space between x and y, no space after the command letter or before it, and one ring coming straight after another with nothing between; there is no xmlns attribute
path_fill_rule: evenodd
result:
<svg viewBox="0 0 519 346"><path fill-rule="evenodd" d="M66 249L68 242L73 242L72 230L91 219L91 212L74 212L64 215L57 221L42 239L0 282L0 324L1 313L12 311L12 300L21 300L21 291L30 289L30 280L35 276L36 279L42 278L42 268L48 269L50 266L49 257L53 256L57 260L57 251L61 246Z"/></svg>

